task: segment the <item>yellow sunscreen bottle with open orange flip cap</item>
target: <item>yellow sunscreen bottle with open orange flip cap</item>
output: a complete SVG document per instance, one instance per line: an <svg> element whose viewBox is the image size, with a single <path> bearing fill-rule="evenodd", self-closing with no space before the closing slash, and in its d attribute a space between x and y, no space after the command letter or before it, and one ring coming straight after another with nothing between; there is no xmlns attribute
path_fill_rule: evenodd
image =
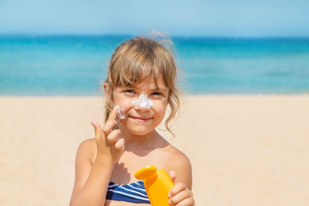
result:
<svg viewBox="0 0 309 206"><path fill-rule="evenodd" d="M168 192L174 187L174 183L164 169L156 170L155 166L146 166L134 174L136 179L142 179L152 206L170 206L168 204Z"/></svg>

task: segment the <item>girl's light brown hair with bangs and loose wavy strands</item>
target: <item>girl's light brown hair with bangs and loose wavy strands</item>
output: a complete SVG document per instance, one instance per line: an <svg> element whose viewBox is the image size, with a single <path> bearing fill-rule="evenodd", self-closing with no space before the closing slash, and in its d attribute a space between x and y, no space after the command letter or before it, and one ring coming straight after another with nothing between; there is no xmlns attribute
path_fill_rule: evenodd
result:
<svg viewBox="0 0 309 206"><path fill-rule="evenodd" d="M173 135L171 121L179 115L181 90L176 86L177 73L173 42L159 32L149 33L150 37L138 36L122 42L114 51L106 79L105 122L113 110L113 90L116 86L132 87L143 82L149 76L157 80L162 77L168 87L168 105L170 114L164 125ZM117 126L116 126L117 128Z"/></svg>

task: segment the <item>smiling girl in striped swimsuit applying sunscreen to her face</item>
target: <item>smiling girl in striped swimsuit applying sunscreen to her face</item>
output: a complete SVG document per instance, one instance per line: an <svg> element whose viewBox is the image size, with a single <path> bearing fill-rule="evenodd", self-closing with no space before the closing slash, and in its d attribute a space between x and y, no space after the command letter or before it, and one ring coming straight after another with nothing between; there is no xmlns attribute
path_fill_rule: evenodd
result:
<svg viewBox="0 0 309 206"><path fill-rule="evenodd" d="M112 55L103 85L105 124L91 122L95 138L77 149L70 206L149 206L143 181L134 177L147 165L163 168L174 182L168 193L170 205L194 206L190 160L155 130L169 105L165 126L171 132L169 123L180 107L177 66L170 47L161 42L135 37ZM141 94L149 107L132 104ZM124 109L125 119L117 118L116 105Z"/></svg>

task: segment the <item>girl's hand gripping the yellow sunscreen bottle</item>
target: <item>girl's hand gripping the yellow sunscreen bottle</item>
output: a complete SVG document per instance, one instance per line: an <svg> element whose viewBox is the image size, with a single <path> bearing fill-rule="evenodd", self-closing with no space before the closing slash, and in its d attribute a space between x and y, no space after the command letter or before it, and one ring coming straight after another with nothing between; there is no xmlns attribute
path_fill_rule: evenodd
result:
<svg viewBox="0 0 309 206"><path fill-rule="evenodd" d="M168 176L175 183L176 172L170 171ZM168 203L171 206L195 206L193 199L193 192L188 189L187 185L183 182L178 182L168 192Z"/></svg>

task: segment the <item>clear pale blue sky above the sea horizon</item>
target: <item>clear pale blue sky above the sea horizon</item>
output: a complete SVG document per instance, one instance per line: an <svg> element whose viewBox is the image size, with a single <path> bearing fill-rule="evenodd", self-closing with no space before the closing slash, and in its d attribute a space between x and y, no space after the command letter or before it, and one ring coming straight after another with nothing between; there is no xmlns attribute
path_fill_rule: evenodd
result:
<svg viewBox="0 0 309 206"><path fill-rule="evenodd" d="M309 37L309 0L0 0L0 34Z"/></svg>

